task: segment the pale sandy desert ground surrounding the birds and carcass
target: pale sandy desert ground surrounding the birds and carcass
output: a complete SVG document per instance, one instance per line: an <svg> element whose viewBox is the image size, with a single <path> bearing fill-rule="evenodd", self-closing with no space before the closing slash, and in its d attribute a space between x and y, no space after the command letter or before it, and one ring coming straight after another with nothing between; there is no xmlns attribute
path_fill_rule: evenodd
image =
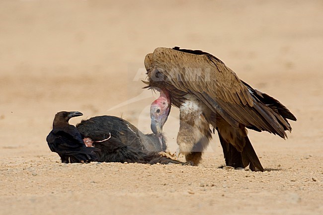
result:
<svg viewBox="0 0 323 215"><path fill-rule="evenodd" d="M321 0L0 1L0 214L322 215L322 11ZM286 141L250 131L267 171L218 169L216 136L198 167L61 164L46 143L58 111L150 132L143 61L172 46L216 55L296 115ZM171 151L178 124L173 108Z"/></svg>

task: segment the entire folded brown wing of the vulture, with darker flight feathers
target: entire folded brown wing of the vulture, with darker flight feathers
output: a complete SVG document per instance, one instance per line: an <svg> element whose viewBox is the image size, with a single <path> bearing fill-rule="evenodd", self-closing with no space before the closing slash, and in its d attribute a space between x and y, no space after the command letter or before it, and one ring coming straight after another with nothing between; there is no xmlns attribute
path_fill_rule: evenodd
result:
<svg viewBox="0 0 323 215"><path fill-rule="evenodd" d="M285 116L283 118L278 111L259 100L254 89L208 53L157 48L146 56L145 66L150 81L165 82L177 90L193 93L235 128L240 123L282 138L286 137L285 130L291 131ZM277 102L279 111L285 111Z"/></svg>

